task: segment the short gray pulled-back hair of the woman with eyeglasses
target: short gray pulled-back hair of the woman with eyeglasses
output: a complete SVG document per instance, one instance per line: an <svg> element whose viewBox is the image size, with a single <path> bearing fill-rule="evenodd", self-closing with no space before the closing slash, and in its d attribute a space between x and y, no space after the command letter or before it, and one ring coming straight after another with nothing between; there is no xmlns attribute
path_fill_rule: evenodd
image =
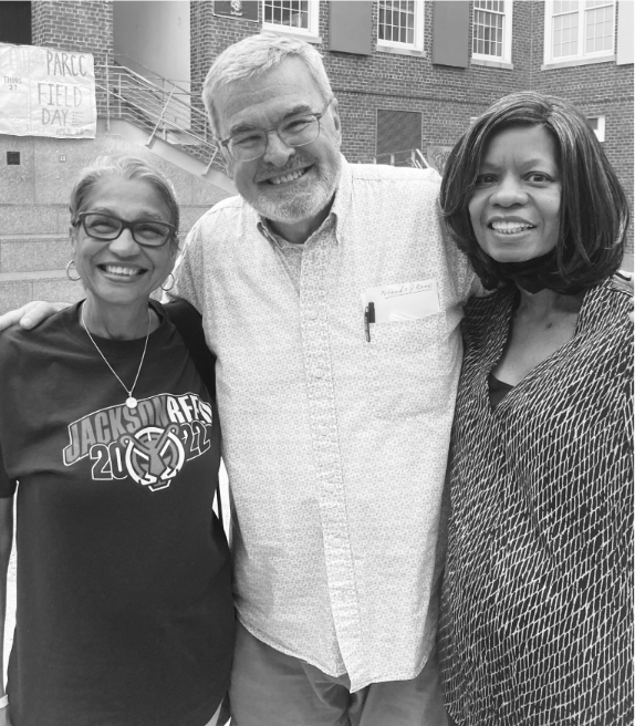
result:
<svg viewBox="0 0 635 726"><path fill-rule="evenodd" d="M71 191L71 225L76 227L81 211L84 211L94 186L107 176L121 176L124 179L147 182L165 203L168 222L177 232L170 239L173 249L178 248L178 225L180 219L178 201L171 182L159 170L152 167L138 156L114 155L98 156L91 166L82 169Z"/></svg>

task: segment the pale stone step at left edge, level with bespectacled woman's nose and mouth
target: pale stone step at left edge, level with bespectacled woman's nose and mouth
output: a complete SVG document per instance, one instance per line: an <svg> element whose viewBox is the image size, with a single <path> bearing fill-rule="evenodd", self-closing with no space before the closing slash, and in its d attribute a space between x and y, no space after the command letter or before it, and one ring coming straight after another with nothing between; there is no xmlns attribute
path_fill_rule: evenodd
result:
<svg viewBox="0 0 635 726"><path fill-rule="evenodd" d="M0 273L59 270L71 259L71 245L63 235L12 235L0 237Z"/></svg>

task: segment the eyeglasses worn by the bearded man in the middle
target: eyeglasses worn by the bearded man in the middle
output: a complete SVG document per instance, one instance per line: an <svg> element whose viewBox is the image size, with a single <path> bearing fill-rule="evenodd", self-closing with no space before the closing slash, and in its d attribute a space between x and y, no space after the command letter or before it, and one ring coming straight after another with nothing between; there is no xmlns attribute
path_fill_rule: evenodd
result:
<svg viewBox="0 0 635 726"><path fill-rule="evenodd" d="M333 98L320 113L301 113L284 118L277 126L268 129L254 128L235 134L220 142L236 162L253 162L267 151L269 134L275 132L287 146L305 146L320 136L320 118L326 113Z"/></svg>

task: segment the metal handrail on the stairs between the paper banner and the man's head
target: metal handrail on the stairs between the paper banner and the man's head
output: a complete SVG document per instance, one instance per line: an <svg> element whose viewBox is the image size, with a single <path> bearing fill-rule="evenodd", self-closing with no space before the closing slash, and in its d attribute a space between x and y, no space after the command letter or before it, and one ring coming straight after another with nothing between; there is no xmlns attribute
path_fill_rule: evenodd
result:
<svg viewBox="0 0 635 726"><path fill-rule="evenodd" d="M95 66L97 77L104 79L96 87L105 94L106 127L112 118L125 118L148 132L146 146L152 146L156 136L178 146L190 156L206 164L204 175L210 167L226 170L225 159L216 143L204 113L192 102L189 91L173 81L169 92L132 69L119 64ZM100 70L102 71L100 73ZM116 103L111 103L111 101Z"/></svg>

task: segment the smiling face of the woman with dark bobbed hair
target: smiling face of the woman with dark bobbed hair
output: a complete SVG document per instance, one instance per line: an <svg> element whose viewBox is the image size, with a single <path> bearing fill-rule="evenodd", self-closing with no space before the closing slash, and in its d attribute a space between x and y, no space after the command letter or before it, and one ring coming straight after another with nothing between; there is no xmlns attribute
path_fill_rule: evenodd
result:
<svg viewBox="0 0 635 726"><path fill-rule="evenodd" d="M487 145L468 209L477 241L499 262L552 250L560 235L562 184L553 137L514 126Z"/></svg>

